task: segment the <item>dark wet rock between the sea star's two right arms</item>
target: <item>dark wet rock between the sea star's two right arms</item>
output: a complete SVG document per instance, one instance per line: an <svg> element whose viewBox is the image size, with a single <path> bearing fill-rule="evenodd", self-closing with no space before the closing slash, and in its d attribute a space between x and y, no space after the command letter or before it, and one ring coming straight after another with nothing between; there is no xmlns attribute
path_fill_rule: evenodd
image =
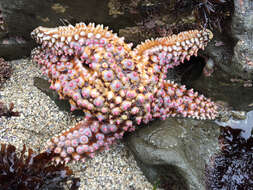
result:
<svg viewBox="0 0 253 190"><path fill-rule="evenodd" d="M185 64L188 67L183 72L182 84L215 102L225 102L225 107L230 110L252 110L253 88L245 87L248 81L231 77L217 65L214 66L211 76L206 76L201 69L204 63L195 58L191 61L192 63ZM250 83L252 84L252 81Z"/></svg>

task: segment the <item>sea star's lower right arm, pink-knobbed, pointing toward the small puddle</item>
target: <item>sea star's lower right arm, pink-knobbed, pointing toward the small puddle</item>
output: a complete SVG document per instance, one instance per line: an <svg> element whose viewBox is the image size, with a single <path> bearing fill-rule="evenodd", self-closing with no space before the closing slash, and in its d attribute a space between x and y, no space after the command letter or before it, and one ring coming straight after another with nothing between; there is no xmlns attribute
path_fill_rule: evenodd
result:
<svg viewBox="0 0 253 190"><path fill-rule="evenodd" d="M157 112L162 118L183 116L196 119L215 119L217 105L204 95L199 95L193 89L186 89L173 81L164 81L164 94L156 100ZM162 101L159 101L162 100ZM160 102L160 103L159 103Z"/></svg>

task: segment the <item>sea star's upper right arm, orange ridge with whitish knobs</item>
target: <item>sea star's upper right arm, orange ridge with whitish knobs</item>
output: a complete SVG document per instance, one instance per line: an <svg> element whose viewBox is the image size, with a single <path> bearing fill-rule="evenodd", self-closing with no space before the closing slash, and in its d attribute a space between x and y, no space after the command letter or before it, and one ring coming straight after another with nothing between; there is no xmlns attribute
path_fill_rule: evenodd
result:
<svg viewBox="0 0 253 190"><path fill-rule="evenodd" d="M142 62L163 67L166 73L168 68L183 63L185 59L189 60L192 55L197 56L198 50L204 50L212 38L213 34L208 29L190 30L169 37L146 40L133 52Z"/></svg>

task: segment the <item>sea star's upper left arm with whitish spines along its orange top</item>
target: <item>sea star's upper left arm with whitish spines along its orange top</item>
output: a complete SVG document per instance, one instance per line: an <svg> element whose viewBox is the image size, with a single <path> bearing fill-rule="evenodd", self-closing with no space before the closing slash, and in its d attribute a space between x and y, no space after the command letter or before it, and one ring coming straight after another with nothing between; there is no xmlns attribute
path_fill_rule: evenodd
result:
<svg viewBox="0 0 253 190"><path fill-rule="evenodd" d="M64 55L64 60L75 56L87 64L108 52L118 53L119 50L129 52L132 47L132 44L124 42L124 37L118 37L116 33L108 30L108 27L94 23L88 25L78 23L75 26L57 28L39 26L32 31L31 36L41 44L42 49L49 50L50 55L58 57ZM104 52L102 47L108 49L108 52Z"/></svg>

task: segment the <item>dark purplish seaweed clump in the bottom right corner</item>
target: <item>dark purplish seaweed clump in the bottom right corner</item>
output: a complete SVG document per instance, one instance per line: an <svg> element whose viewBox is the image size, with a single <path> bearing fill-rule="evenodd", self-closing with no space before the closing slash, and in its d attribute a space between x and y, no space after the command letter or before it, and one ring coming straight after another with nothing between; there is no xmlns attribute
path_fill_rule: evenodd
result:
<svg viewBox="0 0 253 190"><path fill-rule="evenodd" d="M241 132L228 126L221 128L221 152L212 157L206 170L208 190L253 189L253 137L245 140Z"/></svg>

